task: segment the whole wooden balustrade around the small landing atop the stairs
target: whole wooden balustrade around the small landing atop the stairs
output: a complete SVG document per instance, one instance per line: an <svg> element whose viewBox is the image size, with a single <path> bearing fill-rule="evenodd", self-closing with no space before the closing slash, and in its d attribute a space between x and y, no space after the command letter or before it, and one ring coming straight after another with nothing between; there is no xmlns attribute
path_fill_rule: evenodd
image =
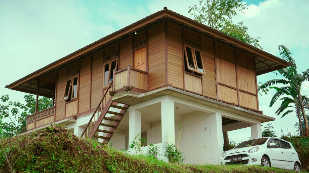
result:
<svg viewBox="0 0 309 173"><path fill-rule="evenodd" d="M147 90L147 72L131 67L114 71L113 91L122 89L123 86L133 86L134 88Z"/></svg>

